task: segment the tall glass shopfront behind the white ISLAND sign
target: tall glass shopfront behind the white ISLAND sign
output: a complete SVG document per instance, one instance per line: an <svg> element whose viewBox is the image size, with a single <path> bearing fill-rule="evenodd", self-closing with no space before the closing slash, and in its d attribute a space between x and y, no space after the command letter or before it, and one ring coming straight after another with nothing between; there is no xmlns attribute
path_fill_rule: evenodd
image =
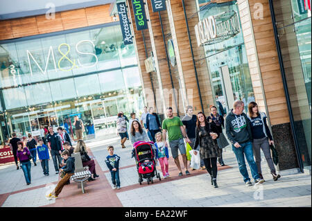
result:
<svg viewBox="0 0 312 221"><path fill-rule="evenodd" d="M222 37L210 39L203 44L213 96L223 104L227 112L235 100L242 100L245 103L245 112L248 112L248 104L254 101L254 91L237 1L212 3L198 0L198 11L200 21L214 17L216 31L223 31L220 34ZM223 28L231 31L225 33Z"/></svg>

